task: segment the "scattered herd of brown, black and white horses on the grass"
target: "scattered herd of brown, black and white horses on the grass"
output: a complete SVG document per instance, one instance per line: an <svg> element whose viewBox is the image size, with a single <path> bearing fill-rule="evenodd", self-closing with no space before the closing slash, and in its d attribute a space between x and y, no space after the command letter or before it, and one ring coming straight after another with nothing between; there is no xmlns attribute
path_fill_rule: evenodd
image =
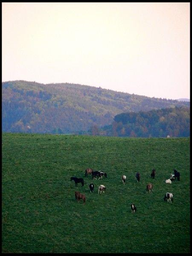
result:
<svg viewBox="0 0 192 256"><path fill-rule="evenodd" d="M166 180L166 183L172 183L173 181L175 181L175 179L177 179L178 181L180 180L180 172L177 172L176 169L173 169L173 171L174 171L174 175L171 174L170 179L168 179L170 181L167 182L168 180ZM153 169L152 172L151 172L151 178L152 179L155 178L155 174L156 174L156 170ZM91 168L87 168L85 170L85 177L87 177L88 175L92 175L93 180L97 179L96 177L99 177L98 180L102 179L103 176L107 177L107 173L106 172L103 172L103 171L93 171L93 169L91 169ZM140 175L139 172L136 173L135 177L137 178L137 182L140 182L141 175ZM81 185L84 186L84 179L83 178L71 177L70 180L71 181L72 180L75 181L75 186L78 186L78 183L81 183ZM126 183L126 175L122 175L122 183L123 184ZM89 188L90 188L90 192L92 193L94 191L94 184L90 183ZM153 189L153 184L148 183L147 187L146 187L146 191L150 193L152 189ZM106 187L104 185L100 185L99 186L99 190L98 190L98 194L101 194L102 192L105 193L105 191L106 191ZM82 199L84 204L85 204L86 197L85 197L84 194L81 194L79 191L75 191L75 198L76 198L76 201L78 201L78 202L80 202L80 199ZM165 196L164 196L164 201L172 203L173 202L173 194L167 192L165 194ZM137 210L137 207L134 204L131 204L131 211L132 211L132 213L135 213L136 210Z"/></svg>

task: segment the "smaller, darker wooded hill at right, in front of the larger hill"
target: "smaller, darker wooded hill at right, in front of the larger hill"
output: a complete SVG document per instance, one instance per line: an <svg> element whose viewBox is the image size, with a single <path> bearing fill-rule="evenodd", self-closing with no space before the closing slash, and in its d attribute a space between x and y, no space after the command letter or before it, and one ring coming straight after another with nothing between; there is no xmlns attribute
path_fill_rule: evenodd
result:
<svg viewBox="0 0 192 256"><path fill-rule="evenodd" d="M190 110L188 107L175 107L121 113L100 133L121 137L189 137Z"/></svg>

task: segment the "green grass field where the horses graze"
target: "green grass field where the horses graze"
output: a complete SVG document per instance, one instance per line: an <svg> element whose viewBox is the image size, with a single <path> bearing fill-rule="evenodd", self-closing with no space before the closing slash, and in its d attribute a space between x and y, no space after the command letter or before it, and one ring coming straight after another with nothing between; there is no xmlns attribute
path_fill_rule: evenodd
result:
<svg viewBox="0 0 192 256"><path fill-rule="evenodd" d="M189 138L3 133L2 167L3 253L189 253ZM108 177L84 177L88 167ZM166 184L173 169L180 181ZM83 177L84 187L75 188L72 176ZM100 184L105 194L98 195ZM166 192L173 204L163 201Z"/></svg>

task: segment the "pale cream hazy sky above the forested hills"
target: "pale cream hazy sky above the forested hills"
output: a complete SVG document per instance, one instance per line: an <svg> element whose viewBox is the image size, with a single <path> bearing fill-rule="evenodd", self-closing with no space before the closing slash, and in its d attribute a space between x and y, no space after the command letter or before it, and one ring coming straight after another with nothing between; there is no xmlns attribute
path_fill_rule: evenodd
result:
<svg viewBox="0 0 192 256"><path fill-rule="evenodd" d="M189 98L190 3L2 3L2 80Z"/></svg>

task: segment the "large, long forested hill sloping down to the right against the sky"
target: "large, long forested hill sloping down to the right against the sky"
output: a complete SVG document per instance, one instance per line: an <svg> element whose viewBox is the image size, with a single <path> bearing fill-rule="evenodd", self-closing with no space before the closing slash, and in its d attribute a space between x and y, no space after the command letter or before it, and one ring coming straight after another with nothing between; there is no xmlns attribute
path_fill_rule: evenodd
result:
<svg viewBox="0 0 192 256"><path fill-rule="evenodd" d="M189 102L81 84L7 81L2 83L2 128L6 132L73 133L109 125L122 112L182 105Z"/></svg>

